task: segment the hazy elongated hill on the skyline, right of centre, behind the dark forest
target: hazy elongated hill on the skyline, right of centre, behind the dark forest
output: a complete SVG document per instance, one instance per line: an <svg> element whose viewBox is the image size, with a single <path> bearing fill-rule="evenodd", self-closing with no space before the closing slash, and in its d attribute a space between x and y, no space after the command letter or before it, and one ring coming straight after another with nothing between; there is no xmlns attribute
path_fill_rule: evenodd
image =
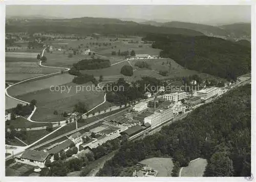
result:
<svg viewBox="0 0 256 182"><path fill-rule="evenodd" d="M183 28L183 29L190 29L199 31L202 33L212 33L214 35L227 35L227 31L223 30L219 27L210 26L210 25L203 25L203 24L194 24L190 22L181 22L181 21L170 21L165 22L163 27L172 27L172 28Z"/></svg>

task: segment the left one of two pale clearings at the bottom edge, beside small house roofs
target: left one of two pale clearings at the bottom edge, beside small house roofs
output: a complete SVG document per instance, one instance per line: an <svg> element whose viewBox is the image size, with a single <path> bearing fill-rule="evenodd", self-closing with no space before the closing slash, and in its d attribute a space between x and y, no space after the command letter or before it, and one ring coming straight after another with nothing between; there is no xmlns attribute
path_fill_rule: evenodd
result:
<svg viewBox="0 0 256 182"><path fill-rule="evenodd" d="M144 165L149 165L152 169L157 170L157 177L169 177L172 176L172 170L174 167L172 158L165 157L153 157L147 158L139 162Z"/></svg>

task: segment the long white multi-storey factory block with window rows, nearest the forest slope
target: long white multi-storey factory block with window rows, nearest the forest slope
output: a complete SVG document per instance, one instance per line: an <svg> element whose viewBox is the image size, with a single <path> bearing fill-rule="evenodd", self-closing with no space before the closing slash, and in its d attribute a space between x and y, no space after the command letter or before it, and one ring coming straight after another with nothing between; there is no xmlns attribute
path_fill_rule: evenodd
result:
<svg viewBox="0 0 256 182"><path fill-rule="evenodd" d="M144 118L144 123L148 123L151 127L155 127L165 121L172 119L174 116L173 108L159 109L146 118Z"/></svg>

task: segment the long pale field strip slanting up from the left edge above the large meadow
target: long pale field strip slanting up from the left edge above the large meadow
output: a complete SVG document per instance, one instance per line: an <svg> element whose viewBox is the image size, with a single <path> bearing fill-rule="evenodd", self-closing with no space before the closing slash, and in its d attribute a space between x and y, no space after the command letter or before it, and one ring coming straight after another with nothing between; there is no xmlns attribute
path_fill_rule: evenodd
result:
<svg viewBox="0 0 256 182"><path fill-rule="evenodd" d="M28 81L21 84L14 85L8 89L8 94L11 96L23 95L31 92L36 92L41 89L50 89L50 86L62 85L69 83L74 78L73 75L68 73L59 74L56 76L44 78L35 81Z"/></svg>

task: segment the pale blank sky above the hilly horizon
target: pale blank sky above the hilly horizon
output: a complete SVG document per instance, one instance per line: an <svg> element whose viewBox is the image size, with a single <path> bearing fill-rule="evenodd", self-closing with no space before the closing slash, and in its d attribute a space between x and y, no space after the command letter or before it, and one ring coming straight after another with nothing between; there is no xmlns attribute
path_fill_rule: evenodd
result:
<svg viewBox="0 0 256 182"><path fill-rule="evenodd" d="M246 5L7 5L6 15L138 18L138 21L146 19L221 25L250 22L251 8Z"/></svg>

